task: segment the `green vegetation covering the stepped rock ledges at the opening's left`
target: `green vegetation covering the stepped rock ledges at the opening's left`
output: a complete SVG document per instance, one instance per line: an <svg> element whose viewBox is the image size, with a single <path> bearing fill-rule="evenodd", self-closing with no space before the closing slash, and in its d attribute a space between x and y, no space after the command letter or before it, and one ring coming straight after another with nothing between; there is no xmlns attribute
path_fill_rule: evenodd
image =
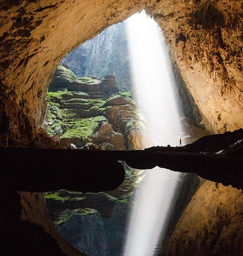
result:
<svg viewBox="0 0 243 256"><path fill-rule="evenodd" d="M84 77L84 79L90 80L91 78ZM60 135L62 138L87 138L95 133L99 123L106 120L102 116L105 111L105 108L103 108L105 100L76 98L84 94L82 92L74 93L68 91L47 92L46 100L49 106L48 134L54 136L63 124L65 124L65 130ZM72 105L74 111L66 109L68 105ZM76 114L77 109L83 113L90 111L97 116L78 118L79 116Z"/></svg>

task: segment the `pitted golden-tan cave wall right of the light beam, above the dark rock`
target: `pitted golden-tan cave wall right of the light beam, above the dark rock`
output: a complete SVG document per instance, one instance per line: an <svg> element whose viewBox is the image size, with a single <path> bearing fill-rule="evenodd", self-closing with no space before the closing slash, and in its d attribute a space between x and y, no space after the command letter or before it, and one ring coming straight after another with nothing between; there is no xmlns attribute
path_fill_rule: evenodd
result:
<svg viewBox="0 0 243 256"><path fill-rule="evenodd" d="M243 126L242 1L159 1L161 26L187 89L213 133Z"/></svg>

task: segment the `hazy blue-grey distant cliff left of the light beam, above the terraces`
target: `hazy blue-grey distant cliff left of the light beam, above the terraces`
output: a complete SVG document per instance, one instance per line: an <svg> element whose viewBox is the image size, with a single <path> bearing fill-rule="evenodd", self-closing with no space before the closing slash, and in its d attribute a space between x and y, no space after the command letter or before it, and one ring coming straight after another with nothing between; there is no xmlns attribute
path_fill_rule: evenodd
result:
<svg viewBox="0 0 243 256"><path fill-rule="evenodd" d="M120 91L131 91L126 21L107 28L69 52L62 60L78 76L116 77Z"/></svg>

